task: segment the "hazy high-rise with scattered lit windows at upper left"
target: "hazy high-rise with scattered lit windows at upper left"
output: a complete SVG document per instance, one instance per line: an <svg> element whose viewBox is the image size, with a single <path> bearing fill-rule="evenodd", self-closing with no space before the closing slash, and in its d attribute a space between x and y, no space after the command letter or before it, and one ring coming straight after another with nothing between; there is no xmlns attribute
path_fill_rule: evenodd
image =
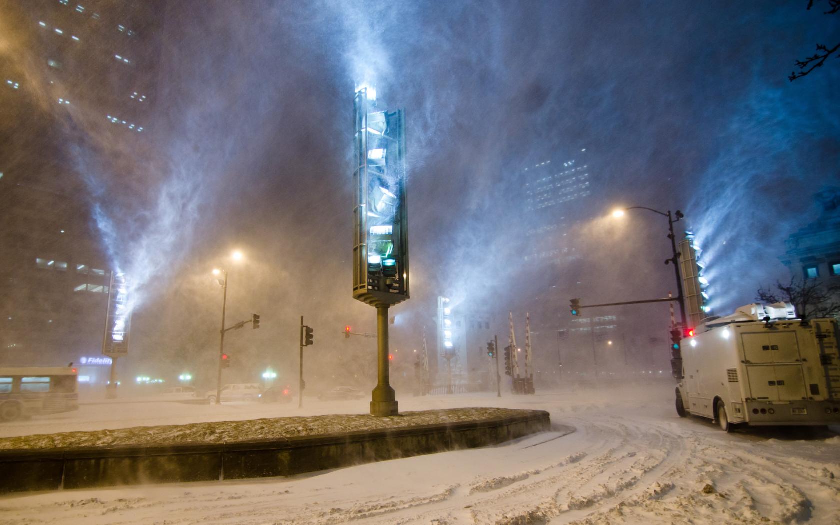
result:
<svg viewBox="0 0 840 525"><path fill-rule="evenodd" d="M153 134L161 3L30 0L0 18L0 364L100 354L97 194ZM87 359L86 359L87 360Z"/></svg>

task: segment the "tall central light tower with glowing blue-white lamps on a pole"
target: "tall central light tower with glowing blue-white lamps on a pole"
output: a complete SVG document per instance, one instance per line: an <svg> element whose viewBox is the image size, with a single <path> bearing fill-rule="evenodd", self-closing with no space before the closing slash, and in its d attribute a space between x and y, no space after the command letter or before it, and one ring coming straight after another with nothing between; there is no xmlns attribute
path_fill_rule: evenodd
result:
<svg viewBox="0 0 840 525"><path fill-rule="evenodd" d="M378 111L373 87L354 97L353 297L376 308L374 416L399 413L388 368L388 308L408 299L405 111Z"/></svg>

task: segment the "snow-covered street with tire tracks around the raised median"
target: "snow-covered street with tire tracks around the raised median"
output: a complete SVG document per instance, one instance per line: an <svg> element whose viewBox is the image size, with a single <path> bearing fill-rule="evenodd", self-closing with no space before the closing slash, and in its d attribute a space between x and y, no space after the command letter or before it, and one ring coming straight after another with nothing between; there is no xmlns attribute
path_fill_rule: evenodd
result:
<svg viewBox="0 0 840 525"><path fill-rule="evenodd" d="M680 419L673 387L609 396L403 397L401 410L500 406L551 413L555 431L498 447L314 475L3 496L4 523L840 523L840 436L794 428L723 433ZM306 414L366 402L307 399ZM91 410L96 407L96 411ZM3 435L102 428L117 405L3 426ZM122 405L108 428L301 415L289 405ZM127 409L127 407L131 407ZM156 407L153 409L152 407ZM221 408L221 410L219 410ZM155 412L157 414L155 415ZM569 428L575 431L569 432Z"/></svg>

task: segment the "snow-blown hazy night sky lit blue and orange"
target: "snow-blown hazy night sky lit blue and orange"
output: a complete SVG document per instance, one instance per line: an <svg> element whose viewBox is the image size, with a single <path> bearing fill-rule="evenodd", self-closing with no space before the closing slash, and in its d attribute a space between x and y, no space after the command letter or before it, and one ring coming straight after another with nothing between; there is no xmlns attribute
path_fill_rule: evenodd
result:
<svg viewBox="0 0 840 525"><path fill-rule="evenodd" d="M66 168L87 187L102 248L136 286L134 367L213 370L222 290L210 270L222 265L228 324L262 316L260 331L226 339L249 363L235 371L241 381L271 365L296 377L303 315L316 330L309 373L350 370L372 384L375 340L342 335L345 325L375 332L350 285L362 83L381 108L407 110L412 299L391 310L404 354L422 346L423 327L434 346L438 295L488 312L500 340L514 312L524 341L526 312L564 328L570 297L675 291L665 219L640 211L617 222L614 207L682 210L678 237L697 235L722 315L785 278L784 240L816 218L814 193L837 183L840 69L786 76L832 21L804 3L525 7L160 3L160 32L142 34L160 65L154 119L134 150L42 93L42 110L66 122ZM0 53L39 81L24 46L7 39ZM573 254L526 278L525 202L511 198L522 170L581 150L592 197L564 232ZM232 249L241 265L227 260ZM649 321L638 338L664 340L666 306L617 312ZM551 338L535 336L535 359ZM349 369L354 355L369 367Z"/></svg>

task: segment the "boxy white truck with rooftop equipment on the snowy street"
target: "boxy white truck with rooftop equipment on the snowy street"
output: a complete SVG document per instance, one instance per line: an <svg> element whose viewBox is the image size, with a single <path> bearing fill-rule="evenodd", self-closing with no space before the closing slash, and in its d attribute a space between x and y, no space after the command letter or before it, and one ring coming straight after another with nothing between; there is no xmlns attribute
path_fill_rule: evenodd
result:
<svg viewBox="0 0 840 525"><path fill-rule="evenodd" d="M706 320L682 341L681 417L745 425L840 425L837 320L796 318L784 302Z"/></svg>

